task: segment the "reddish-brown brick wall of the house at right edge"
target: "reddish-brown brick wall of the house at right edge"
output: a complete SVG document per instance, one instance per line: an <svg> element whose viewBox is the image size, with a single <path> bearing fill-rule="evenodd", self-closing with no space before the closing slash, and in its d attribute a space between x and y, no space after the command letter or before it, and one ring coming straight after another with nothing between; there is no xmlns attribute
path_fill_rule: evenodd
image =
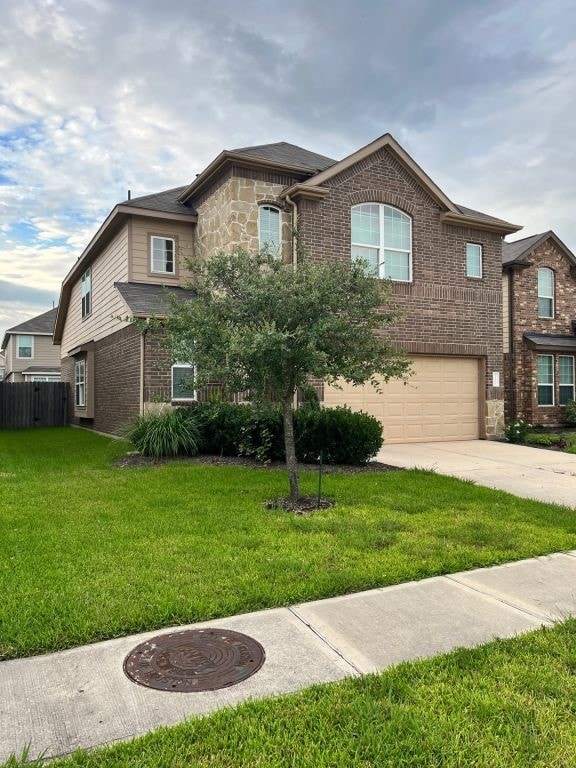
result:
<svg viewBox="0 0 576 768"><path fill-rule="evenodd" d="M572 262L548 239L530 254L529 267L510 272L512 281L510 352L505 355L506 419L526 419L531 424L559 426L564 408L558 406L558 355L570 351L538 352L524 339L524 332L574 336L576 319L576 278L570 274ZM554 271L554 317L538 317L538 269ZM554 406L539 406L537 397L537 356L554 355Z"/></svg>

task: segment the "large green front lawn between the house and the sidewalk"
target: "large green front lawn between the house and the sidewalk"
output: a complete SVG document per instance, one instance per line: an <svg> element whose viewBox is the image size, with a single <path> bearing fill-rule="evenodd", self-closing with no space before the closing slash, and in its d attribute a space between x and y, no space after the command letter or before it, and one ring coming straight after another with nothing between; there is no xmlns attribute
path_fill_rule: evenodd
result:
<svg viewBox="0 0 576 768"><path fill-rule="evenodd" d="M337 506L296 517L261 506L281 471L125 451L0 432L0 657L576 548L573 511L430 472L328 475Z"/></svg>

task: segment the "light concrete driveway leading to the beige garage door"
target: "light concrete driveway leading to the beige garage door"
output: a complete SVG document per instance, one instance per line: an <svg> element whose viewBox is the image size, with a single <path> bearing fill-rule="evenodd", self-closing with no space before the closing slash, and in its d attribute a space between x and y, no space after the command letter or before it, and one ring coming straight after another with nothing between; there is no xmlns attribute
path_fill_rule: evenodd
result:
<svg viewBox="0 0 576 768"><path fill-rule="evenodd" d="M378 461L432 469L516 496L576 508L576 455L492 440L384 445Z"/></svg>

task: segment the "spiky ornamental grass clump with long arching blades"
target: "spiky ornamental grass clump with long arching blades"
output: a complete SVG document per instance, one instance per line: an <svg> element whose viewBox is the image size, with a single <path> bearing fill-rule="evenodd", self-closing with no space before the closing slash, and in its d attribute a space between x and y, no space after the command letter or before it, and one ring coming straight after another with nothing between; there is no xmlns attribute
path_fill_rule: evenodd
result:
<svg viewBox="0 0 576 768"><path fill-rule="evenodd" d="M188 408L166 408L138 416L124 434L144 456L158 459L198 453L200 430Z"/></svg>

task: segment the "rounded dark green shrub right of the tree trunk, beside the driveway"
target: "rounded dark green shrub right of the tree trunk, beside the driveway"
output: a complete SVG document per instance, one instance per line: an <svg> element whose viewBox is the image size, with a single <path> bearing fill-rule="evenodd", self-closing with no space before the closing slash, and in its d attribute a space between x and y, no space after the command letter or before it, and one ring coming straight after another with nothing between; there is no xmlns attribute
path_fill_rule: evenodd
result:
<svg viewBox="0 0 576 768"><path fill-rule="evenodd" d="M382 447L382 425L350 408L300 408L294 414L296 456L327 464L366 464Z"/></svg>

